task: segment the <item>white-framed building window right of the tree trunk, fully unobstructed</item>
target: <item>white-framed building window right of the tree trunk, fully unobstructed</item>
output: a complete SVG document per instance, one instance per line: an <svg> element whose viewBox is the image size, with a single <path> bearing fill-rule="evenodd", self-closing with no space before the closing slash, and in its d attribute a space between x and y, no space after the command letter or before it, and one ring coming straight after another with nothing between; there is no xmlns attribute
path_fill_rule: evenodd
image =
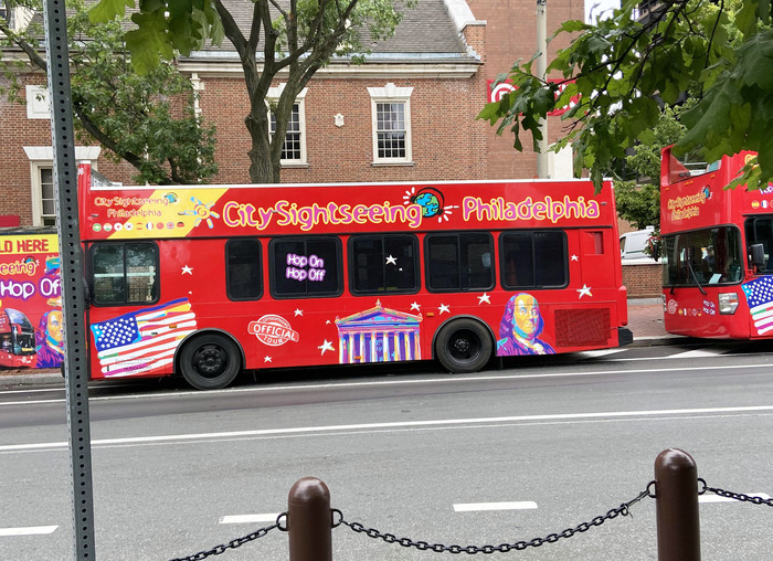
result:
<svg viewBox="0 0 773 561"><path fill-rule="evenodd" d="M412 87L369 87L373 128L373 163L412 163Z"/></svg>

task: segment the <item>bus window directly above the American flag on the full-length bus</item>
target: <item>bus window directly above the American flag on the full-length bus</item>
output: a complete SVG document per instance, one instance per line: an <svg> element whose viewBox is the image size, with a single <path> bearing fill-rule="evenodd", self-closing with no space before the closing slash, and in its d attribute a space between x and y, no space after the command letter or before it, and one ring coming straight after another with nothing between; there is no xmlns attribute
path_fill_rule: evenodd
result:
<svg viewBox="0 0 773 561"><path fill-rule="evenodd" d="M156 244L95 244L91 256L94 304L149 304L158 298Z"/></svg>

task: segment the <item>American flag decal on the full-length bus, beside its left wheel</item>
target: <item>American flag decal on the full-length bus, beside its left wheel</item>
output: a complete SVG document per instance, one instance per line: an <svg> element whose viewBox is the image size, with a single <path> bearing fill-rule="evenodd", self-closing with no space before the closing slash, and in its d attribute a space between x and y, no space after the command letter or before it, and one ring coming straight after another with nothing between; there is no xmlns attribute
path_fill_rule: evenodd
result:
<svg viewBox="0 0 773 561"><path fill-rule="evenodd" d="M188 298L124 314L92 326L102 373L125 377L171 364L180 341L195 330Z"/></svg>

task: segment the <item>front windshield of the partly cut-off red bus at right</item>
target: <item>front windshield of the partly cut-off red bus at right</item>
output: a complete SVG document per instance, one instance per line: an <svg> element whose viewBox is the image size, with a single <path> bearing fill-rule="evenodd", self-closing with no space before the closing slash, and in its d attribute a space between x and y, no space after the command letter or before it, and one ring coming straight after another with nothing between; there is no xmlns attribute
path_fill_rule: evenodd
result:
<svg viewBox="0 0 773 561"><path fill-rule="evenodd" d="M743 278L740 240L735 226L664 236L664 286L739 283Z"/></svg>

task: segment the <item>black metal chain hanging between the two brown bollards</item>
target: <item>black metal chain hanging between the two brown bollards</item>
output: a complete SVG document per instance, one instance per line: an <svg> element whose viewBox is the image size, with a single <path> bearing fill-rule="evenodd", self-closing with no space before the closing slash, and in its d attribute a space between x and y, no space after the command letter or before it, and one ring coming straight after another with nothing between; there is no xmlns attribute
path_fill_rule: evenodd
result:
<svg viewBox="0 0 773 561"><path fill-rule="evenodd" d="M612 510L607 511L603 516L597 516L590 522L582 522L574 528L568 528L566 530L562 531L561 533L550 533L544 538L534 538L530 541L517 541L515 543L500 543L499 546L444 546L442 543L428 543L426 541L413 541L410 538L398 538L393 533L384 533L379 530L375 530L373 528L366 528L359 522L348 522L343 520L343 515L341 514L340 510L333 509L333 514L338 514L340 520L338 522L333 523L333 528L339 526L339 525L345 525L351 528L353 531L358 533L364 533L366 536L370 538L379 538L385 541L386 543L399 543L400 546L404 548L416 548L421 551L434 551L436 553L468 553L470 555L474 555L475 553L496 553L496 552L501 552L501 553L507 553L508 551L516 550L516 551L522 551L527 548L538 548L542 546L543 543L555 543L559 541L561 538L571 538L575 533L580 532L585 532L590 530L594 526L601 526L607 520L612 520L613 518L616 518L617 516L631 516L631 511L628 510L632 506L634 506L636 502L642 500L645 497L654 497L653 493L649 490L649 488L654 485L655 481L652 481L645 490L639 493L635 498L627 502L623 502L620 507L613 508Z"/></svg>

